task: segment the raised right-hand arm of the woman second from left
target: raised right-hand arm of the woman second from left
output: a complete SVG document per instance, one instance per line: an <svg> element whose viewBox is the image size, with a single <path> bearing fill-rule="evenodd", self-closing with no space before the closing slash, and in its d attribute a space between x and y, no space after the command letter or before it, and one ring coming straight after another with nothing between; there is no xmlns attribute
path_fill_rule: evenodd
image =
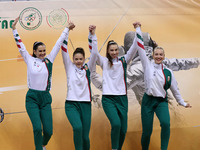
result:
<svg viewBox="0 0 200 150"><path fill-rule="evenodd" d="M97 37L95 35L95 30L96 30L95 25L89 26L88 42L91 54L90 54L90 60L88 62L88 67L90 71L96 70L95 67L98 54Z"/></svg>

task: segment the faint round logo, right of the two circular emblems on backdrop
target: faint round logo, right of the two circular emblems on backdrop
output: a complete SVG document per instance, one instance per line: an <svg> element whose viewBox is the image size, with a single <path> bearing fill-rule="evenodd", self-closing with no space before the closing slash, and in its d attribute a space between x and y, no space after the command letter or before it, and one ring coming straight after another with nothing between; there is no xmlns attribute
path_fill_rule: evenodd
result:
<svg viewBox="0 0 200 150"><path fill-rule="evenodd" d="M64 9L55 9L46 17L47 24L54 29L60 29L66 26L69 21L69 14Z"/></svg>

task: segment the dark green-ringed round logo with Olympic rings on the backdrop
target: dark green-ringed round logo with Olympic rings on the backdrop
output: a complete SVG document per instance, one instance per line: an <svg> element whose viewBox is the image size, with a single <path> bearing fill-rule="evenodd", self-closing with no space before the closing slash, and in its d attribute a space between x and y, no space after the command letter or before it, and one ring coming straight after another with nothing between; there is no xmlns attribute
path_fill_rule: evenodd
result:
<svg viewBox="0 0 200 150"><path fill-rule="evenodd" d="M19 22L26 30L35 30L42 23L42 14L34 7L27 7L19 15Z"/></svg>

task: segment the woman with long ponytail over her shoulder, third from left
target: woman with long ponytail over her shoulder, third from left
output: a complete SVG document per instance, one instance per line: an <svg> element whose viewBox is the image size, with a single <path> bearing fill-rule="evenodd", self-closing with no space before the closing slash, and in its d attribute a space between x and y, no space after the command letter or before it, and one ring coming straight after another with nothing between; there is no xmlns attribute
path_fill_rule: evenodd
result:
<svg viewBox="0 0 200 150"><path fill-rule="evenodd" d="M111 124L111 142L113 150L121 150L127 131L127 64L135 56L136 40L126 55L118 57L118 44L111 40L107 44L106 57L98 55L97 64L103 69L102 105Z"/></svg>

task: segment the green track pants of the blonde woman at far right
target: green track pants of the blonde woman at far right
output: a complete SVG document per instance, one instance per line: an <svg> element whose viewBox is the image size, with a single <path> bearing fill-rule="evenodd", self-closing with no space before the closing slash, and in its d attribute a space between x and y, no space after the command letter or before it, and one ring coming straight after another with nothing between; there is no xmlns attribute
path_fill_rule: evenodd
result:
<svg viewBox="0 0 200 150"><path fill-rule="evenodd" d="M167 150L170 137L170 116L168 101L165 98L144 94L141 106L142 117L142 150L149 149L150 137L153 129L154 112L161 126L161 150Z"/></svg>

